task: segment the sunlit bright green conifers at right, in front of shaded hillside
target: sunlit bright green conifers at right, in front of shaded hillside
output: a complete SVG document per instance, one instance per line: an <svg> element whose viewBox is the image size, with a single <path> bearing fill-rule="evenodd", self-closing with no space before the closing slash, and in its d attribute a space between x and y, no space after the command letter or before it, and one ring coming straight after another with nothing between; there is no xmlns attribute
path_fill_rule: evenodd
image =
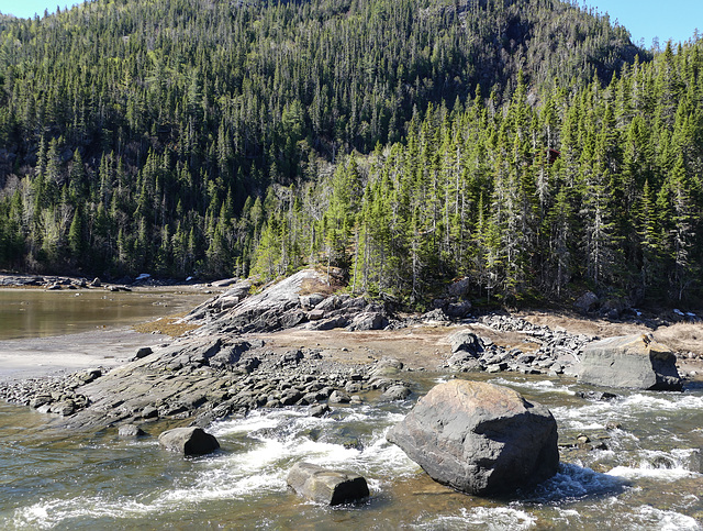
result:
<svg viewBox="0 0 703 531"><path fill-rule="evenodd" d="M700 303L702 74L703 40L536 108L520 81L504 109L480 93L431 108L406 143L341 164L322 213L305 207L317 190L280 201L255 268L271 277L322 246L355 290L416 301L468 276L512 303L574 284Z"/></svg>

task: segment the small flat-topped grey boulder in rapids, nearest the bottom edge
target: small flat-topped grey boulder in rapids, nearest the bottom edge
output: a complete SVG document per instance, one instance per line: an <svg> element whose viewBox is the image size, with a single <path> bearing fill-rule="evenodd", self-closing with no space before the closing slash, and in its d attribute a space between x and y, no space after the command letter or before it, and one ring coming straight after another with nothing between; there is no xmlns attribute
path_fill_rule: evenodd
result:
<svg viewBox="0 0 703 531"><path fill-rule="evenodd" d="M364 477L328 471L311 463L297 463L288 473L287 483L300 496L328 506L358 501L369 496Z"/></svg>

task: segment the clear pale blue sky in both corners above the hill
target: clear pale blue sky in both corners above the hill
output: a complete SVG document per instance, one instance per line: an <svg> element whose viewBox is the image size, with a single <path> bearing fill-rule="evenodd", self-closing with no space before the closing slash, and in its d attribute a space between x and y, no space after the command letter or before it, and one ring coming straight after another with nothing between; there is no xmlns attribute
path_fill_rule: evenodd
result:
<svg viewBox="0 0 703 531"><path fill-rule="evenodd" d="M79 3L77 0L0 0L0 12L15 16L40 16L44 10L56 11L56 5ZM583 0L579 0L579 4ZM688 41L693 30L703 34L703 0L585 0L601 13L607 12L611 21L617 20L629 30L632 41L649 48L652 38L663 44L671 38L674 43Z"/></svg>

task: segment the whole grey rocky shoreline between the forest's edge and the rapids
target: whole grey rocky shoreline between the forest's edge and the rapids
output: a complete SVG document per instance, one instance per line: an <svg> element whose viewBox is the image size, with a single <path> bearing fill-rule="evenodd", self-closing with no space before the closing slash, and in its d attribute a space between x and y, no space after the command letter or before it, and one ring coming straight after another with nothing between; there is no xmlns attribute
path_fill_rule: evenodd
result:
<svg viewBox="0 0 703 531"><path fill-rule="evenodd" d="M254 295L250 283L234 283L183 318L198 328L182 338L140 349L132 361L109 370L0 385L0 399L54 413L57 425L71 429L158 420L207 425L254 409L286 406L315 408L315 414L324 414L331 405L358 403L367 397L405 399L412 394L408 373L421 368L371 349L352 353L344 345L320 346L315 339L324 331L344 330L350 343L378 331L397 334L402 344L408 335L398 334L404 330L432 328L439 336L433 354L416 357L446 374L574 376L583 350L599 339L504 314L451 321L445 310L436 309L399 317L386 305L326 295L316 290L320 287L324 277L313 270ZM298 346L277 339L276 333L288 331L301 339ZM520 346L489 338L506 334L520 338Z"/></svg>

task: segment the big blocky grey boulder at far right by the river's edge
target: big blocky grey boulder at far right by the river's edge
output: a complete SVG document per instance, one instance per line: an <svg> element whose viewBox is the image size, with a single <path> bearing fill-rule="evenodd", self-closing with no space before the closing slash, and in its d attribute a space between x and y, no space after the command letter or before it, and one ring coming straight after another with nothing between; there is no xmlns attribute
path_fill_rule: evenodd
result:
<svg viewBox="0 0 703 531"><path fill-rule="evenodd" d="M629 389L681 390L677 357L649 335L620 335L583 350L579 381Z"/></svg>

